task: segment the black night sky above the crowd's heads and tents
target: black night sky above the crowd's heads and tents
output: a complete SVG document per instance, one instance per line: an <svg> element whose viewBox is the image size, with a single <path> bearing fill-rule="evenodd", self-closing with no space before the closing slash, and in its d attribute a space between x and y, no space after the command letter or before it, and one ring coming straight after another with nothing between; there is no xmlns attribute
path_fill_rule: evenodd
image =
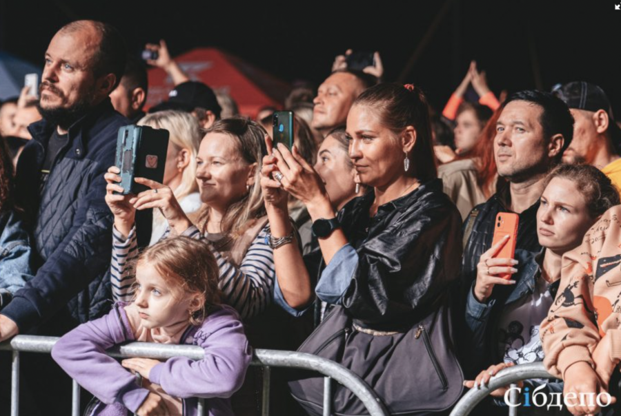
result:
<svg viewBox="0 0 621 416"><path fill-rule="evenodd" d="M586 80L602 86L621 114L621 10L614 4L0 0L0 50L42 65L62 25L98 19L116 25L136 53L162 38L172 56L215 46L288 82L318 85L346 48L379 50L386 81L400 79L415 56L404 81L420 85L440 110L476 59L495 94Z"/></svg>

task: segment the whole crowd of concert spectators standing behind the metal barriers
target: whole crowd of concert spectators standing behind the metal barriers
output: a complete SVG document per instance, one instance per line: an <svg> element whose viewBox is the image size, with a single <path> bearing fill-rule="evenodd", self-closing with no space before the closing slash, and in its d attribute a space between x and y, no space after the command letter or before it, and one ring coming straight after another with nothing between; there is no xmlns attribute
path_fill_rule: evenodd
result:
<svg viewBox="0 0 621 416"><path fill-rule="evenodd" d="M316 93L287 98L287 147L277 109L240 115L166 42L146 49L175 84L148 114L146 65L97 21L51 39L39 97L0 103L0 341L61 337L23 361L22 411L68 414L70 376L88 415L195 415L197 397L212 416L259 415L249 364L270 348L342 364L393 414L448 414L532 362L557 378L520 388L564 393L559 412L621 414L580 400L621 392L621 129L602 88L497 98L472 62L435 112L416 85L382 80L379 54L354 69L348 50ZM169 134L164 180L135 178L138 194L115 165L131 124ZM499 257L509 238L493 244L503 213L519 219L513 258ZM106 355L127 341L205 356ZM2 353L2 412L9 374ZM272 414L321 415L323 383L275 373ZM506 413L508 390L475 411ZM346 388L333 396L336 413L364 413Z"/></svg>

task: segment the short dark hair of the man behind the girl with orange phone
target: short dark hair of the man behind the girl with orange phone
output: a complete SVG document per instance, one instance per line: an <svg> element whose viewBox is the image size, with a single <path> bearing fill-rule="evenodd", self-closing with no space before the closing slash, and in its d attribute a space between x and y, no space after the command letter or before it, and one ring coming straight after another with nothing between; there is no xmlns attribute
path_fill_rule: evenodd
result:
<svg viewBox="0 0 621 416"><path fill-rule="evenodd" d="M502 108L511 101L527 101L542 108L539 122L544 131L544 136L551 138L555 134L561 134L564 138L563 148L556 157L557 160L560 160L573 138L573 116L569 112L569 107L557 96L538 90L524 90L509 94L502 103Z"/></svg>

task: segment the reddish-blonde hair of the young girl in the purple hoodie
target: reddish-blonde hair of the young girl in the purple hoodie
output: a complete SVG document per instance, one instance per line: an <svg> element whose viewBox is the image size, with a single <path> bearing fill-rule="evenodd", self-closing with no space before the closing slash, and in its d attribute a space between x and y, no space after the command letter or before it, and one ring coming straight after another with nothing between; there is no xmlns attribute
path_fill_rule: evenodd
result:
<svg viewBox="0 0 621 416"><path fill-rule="evenodd" d="M140 254L136 267L141 264L154 267L172 287L204 296L199 309L190 311L190 324L201 324L211 307L220 303L218 264L204 242L189 237L166 238Z"/></svg>

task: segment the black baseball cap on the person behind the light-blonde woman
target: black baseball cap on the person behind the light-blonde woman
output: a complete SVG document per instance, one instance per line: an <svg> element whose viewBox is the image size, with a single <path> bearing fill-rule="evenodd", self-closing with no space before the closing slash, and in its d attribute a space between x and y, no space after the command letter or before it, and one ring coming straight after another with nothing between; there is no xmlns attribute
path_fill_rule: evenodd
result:
<svg viewBox="0 0 621 416"><path fill-rule="evenodd" d="M215 114L216 118L220 118L222 109L213 90L204 83L187 81L180 83L168 93L168 101L155 105L149 112L161 110L192 112L197 107L209 110Z"/></svg>

